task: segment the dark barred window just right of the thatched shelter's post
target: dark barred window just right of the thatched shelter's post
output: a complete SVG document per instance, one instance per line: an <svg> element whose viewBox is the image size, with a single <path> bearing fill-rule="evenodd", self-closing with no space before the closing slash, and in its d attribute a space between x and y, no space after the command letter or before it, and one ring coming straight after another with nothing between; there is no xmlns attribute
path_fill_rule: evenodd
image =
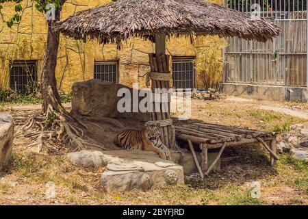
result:
<svg viewBox="0 0 308 219"><path fill-rule="evenodd" d="M194 58L172 58L172 71L173 88L194 88Z"/></svg>

